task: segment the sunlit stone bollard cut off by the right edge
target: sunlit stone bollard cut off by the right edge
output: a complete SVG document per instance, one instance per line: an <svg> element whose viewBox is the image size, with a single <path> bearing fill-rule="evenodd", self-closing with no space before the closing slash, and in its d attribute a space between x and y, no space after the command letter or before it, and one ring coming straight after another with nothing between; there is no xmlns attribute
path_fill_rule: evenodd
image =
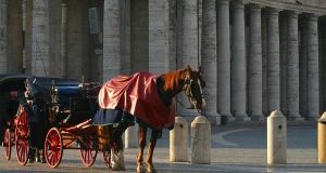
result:
<svg viewBox="0 0 326 173"><path fill-rule="evenodd" d="M318 163L325 164L326 163L326 111L318 120L318 144L317 144L317 157Z"/></svg>

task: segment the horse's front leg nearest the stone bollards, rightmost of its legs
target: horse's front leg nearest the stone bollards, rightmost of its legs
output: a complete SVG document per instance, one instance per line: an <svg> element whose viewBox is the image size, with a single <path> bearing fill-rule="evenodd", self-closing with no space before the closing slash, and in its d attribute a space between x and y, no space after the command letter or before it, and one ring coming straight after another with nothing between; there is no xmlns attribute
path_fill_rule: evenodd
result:
<svg viewBox="0 0 326 173"><path fill-rule="evenodd" d="M153 165L153 152L154 152L156 139L158 139L158 136L160 133L161 133L161 131L158 131L158 130L152 130L152 133L151 133L151 139L150 139L148 152L147 152L147 172L148 173L156 172L156 170Z"/></svg>

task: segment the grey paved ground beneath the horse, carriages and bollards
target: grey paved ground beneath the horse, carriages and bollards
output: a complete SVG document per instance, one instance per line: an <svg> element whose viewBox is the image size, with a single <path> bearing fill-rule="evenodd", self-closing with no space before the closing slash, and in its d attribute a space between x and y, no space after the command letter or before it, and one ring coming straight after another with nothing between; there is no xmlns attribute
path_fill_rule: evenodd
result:
<svg viewBox="0 0 326 173"><path fill-rule="evenodd" d="M190 141L190 139L189 139ZM189 143L190 144L190 143ZM126 172L135 172L138 149L126 149ZM191 157L189 150L189 160ZM316 124L288 125L288 163L266 165L266 128L264 124L212 127L211 164L171 163L168 161L168 132L164 131L154 152L159 172L326 172L326 165L316 163ZM0 150L0 172L110 172L98 155L93 167L85 168L78 150L64 150L63 160L55 170L42 163L18 165L15 151L12 160Z"/></svg>

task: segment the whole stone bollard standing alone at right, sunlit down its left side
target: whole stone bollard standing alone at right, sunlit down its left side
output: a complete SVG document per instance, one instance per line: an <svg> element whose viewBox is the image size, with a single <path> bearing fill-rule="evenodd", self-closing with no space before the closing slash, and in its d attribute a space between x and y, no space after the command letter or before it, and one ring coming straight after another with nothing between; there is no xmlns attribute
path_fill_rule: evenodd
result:
<svg viewBox="0 0 326 173"><path fill-rule="evenodd" d="M287 120L275 110L267 118L267 164L287 163Z"/></svg>

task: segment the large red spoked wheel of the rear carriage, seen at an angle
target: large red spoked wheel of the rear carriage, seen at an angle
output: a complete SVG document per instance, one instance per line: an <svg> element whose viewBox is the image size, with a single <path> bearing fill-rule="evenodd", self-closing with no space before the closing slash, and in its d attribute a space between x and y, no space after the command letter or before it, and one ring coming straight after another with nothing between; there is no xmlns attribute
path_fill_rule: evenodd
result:
<svg viewBox="0 0 326 173"><path fill-rule="evenodd" d="M15 128L15 148L17 161L20 164L25 165L28 161L28 119L24 107L20 107L21 111L17 116Z"/></svg>

